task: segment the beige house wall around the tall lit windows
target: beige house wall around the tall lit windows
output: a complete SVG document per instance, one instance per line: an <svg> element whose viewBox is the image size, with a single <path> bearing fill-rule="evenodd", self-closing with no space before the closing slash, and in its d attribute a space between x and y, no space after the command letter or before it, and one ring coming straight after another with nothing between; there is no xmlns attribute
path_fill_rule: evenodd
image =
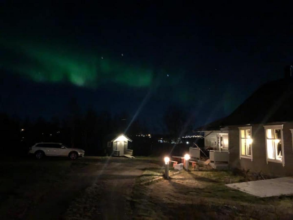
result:
<svg viewBox="0 0 293 220"><path fill-rule="evenodd" d="M266 125L283 124L283 145L285 165L282 163L268 162L266 160L265 128L263 125L252 125L252 155L253 160L241 158L239 155L239 129L238 126L229 126L229 167L262 172L272 176L293 175L293 146L292 133L293 122L272 123ZM245 126L245 125L244 125ZM249 125L251 126L251 125Z"/></svg>

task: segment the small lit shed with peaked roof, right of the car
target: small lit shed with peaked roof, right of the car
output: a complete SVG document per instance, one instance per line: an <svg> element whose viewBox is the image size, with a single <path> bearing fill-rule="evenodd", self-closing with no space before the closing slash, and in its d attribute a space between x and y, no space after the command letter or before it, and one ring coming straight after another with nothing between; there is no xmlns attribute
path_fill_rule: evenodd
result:
<svg viewBox="0 0 293 220"><path fill-rule="evenodd" d="M120 134L113 138L113 140L110 141L110 144L113 147L113 155L132 155L132 150L128 149L128 141L132 142L132 140L124 134Z"/></svg>

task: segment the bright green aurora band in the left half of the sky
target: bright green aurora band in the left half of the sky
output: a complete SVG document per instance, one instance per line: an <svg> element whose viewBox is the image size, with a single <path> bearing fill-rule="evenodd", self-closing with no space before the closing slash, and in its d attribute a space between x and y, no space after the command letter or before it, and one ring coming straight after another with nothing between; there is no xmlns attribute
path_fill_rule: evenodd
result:
<svg viewBox="0 0 293 220"><path fill-rule="evenodd" d="M107 55L88 55L65 47L21 43L13 53L21 53L25 62L17 64L8 61L6 67L29 77L35 82L65 82L76 86L96 88L99 84L113 82L130 87L147 87L151 84L153 73L149 68L129 65L124 57L116 60ZM7 47L7 46L6 46Z"/></svg>

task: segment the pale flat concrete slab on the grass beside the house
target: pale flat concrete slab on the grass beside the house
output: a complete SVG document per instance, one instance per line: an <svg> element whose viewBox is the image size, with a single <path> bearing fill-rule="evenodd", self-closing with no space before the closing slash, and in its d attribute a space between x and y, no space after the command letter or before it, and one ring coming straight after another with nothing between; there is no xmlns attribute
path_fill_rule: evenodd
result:
<svg viewBox="0 0 293 220"><path fill-rule="evenodd" d="M226 186L258 197L293 195L293 177L230 183Z"/></svg>

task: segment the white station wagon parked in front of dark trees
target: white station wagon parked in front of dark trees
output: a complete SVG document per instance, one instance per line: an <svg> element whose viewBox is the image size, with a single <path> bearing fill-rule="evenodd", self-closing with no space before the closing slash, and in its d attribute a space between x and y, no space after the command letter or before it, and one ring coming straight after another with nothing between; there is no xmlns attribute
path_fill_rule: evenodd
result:
<svg viewBox="0 0 293 220"><path fill-rule="evenodd" d="M40 142L30 148L29 153L35 154L37 159L44 156L69 157L75 160L78 157L84 157L84 150L77 148L67 148L62 143Z"/></svg>

